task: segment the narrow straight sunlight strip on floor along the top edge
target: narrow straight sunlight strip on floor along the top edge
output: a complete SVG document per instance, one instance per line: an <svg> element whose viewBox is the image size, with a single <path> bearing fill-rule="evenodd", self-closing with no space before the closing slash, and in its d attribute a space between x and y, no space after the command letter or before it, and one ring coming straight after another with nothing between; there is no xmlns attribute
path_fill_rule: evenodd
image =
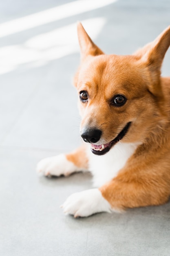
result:
<svg viewBox="0 0 170 256"><path fill-rule="evenodd" d="M0 37L112 4L117 0L78 0L0 24Z"/></svg>

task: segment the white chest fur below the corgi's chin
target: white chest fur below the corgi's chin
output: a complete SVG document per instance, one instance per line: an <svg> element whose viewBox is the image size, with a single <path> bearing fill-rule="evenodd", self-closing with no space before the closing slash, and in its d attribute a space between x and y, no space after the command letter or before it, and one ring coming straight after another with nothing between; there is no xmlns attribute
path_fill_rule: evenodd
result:
<svg viewBox="0 0 170 256"><path fill-rule="evenodd" d="M89 152L90 148L88 148L89 170L93 174L94 187L102 186L112 180L133 155L138 145L119 141L108 153L101 156Z"/></svg>

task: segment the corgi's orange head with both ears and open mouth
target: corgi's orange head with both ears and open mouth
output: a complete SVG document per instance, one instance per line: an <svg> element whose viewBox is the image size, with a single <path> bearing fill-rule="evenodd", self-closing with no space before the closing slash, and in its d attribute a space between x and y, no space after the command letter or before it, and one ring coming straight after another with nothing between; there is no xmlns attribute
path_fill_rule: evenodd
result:
<svg viewBox="0 0 170 256"><path fill-rule="evenodd" d="M144 142L162 121L160 69L170 45L170 27L131 56L106 55L78 24L81 65L74 84L79 94L84 141L104 155L117 141Z"/></svg>

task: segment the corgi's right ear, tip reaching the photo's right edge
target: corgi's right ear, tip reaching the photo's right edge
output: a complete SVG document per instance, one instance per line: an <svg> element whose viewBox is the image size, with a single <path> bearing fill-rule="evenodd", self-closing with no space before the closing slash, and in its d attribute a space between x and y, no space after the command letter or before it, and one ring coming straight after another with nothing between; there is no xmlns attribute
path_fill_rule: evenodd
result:
<svg viewBox="0 0 170 256"><path fill-rule="evenodd" d="M152 81L155 85L159 83L161 65L169 46L170 26L165 29L153 42L148 43L134 54L146 67L148 67ZM154 87L152 89L154 91ZM157 86L155 86L155 89L157 89Z"/></svg>

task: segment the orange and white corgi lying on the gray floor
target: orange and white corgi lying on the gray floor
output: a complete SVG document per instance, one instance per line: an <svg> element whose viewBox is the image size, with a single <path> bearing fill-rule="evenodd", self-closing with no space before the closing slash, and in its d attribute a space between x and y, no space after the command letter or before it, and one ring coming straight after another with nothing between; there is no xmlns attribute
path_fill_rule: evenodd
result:
<svg viewBox="0 0 170 256"><path fill-rule="evenodd" d="M64 213L99 212L165 204L170 196L170 77L161 64L170 26L128 56L106 55L77 25L81 63L75 74L82 145L42 159L44 175L91 171L94 188L68 197Z"/></svg>

